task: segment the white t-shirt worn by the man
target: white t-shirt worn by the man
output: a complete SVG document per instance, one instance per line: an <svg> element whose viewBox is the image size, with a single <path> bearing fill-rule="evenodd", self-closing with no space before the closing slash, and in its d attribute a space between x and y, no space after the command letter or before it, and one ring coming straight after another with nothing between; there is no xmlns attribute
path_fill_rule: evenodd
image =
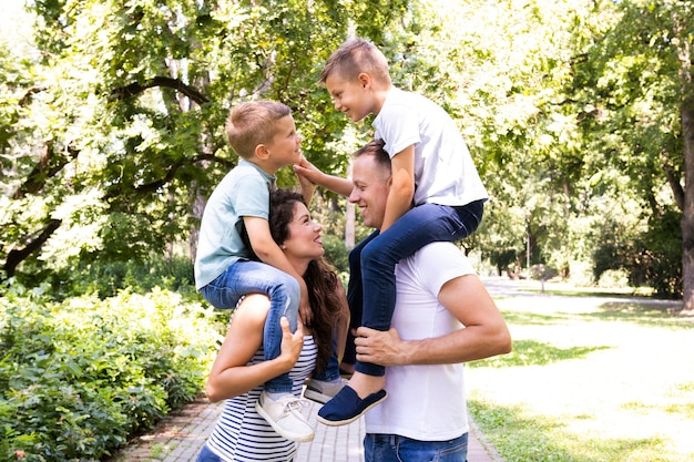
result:
<svg viewBox="0 0 694 462"><path fill-rule="evenodd" d="M433 243L396 266L392 327L404 340L441 337L463 326L437 299L447 281L474 274L451 243ZM469 430L463 365L386 368L388 399L366 413L367 433L445 441Z"/></svg>

